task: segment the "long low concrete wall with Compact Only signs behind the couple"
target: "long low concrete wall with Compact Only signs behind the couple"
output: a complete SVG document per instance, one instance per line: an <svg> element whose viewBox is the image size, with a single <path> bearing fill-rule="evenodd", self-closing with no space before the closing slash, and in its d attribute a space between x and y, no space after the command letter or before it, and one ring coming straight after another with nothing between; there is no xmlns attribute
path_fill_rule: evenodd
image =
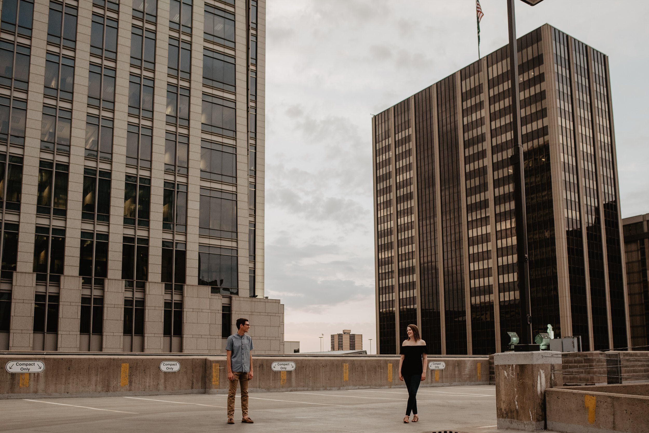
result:
<svg viewBox="0 0 649 433"><path fill-rule="evenodd" d="M92 397L98 395L162 395L186 393L227 393L223 380L225 356L205 355L21 355L21 359L41 361L40 373L0 371L0 398ZM435 358L437 360L438 358ZM0 355L4 364L15 355ZM445 369L429 374L421 386L489 384L476 371L487 357L440 357ZM287 364L273 371L273 362ZM178 362L177 371L162 371L161 362ZM354 357L273 357L254 356L252 392L344 390L353 388L402 388L398 356ZM282 368L282 367L280 367Z"/></svg>

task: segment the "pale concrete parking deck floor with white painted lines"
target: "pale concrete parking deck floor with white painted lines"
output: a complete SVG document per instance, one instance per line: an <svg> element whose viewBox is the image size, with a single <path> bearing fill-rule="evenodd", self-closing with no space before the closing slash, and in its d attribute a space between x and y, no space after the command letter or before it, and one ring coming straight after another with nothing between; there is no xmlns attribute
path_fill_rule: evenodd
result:
<svg viewBox="0 0 649 433"><path fill-rule="evenodd" d="M2 432L498 432L495 386L419 388L419 423L402 419L405 389L251 393L242 424L226 395L159 395L0 401ZM514 433L513 430L500 430Z"/></svg>

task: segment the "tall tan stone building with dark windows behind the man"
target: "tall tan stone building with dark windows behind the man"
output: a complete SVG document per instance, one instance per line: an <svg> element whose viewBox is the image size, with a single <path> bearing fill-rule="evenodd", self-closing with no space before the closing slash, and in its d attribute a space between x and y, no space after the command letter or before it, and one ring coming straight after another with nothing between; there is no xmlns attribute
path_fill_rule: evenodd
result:
<svg viewBox="0 0 649 433"><path fill-rule="evenodd" d="M0 349L283 353L265 0L0 8Z"/></svg>

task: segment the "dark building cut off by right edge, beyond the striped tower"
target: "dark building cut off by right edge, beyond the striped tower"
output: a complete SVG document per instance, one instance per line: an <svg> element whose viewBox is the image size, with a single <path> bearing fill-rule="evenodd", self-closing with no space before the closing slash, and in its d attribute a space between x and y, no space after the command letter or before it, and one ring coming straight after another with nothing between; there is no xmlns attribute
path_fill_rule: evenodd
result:
<svg viewBox="0 0 649 433"><path fill-rule="evenodd" d="M629 292L631 347L649 350L649 213L624 218L624 257Z"/></svg>

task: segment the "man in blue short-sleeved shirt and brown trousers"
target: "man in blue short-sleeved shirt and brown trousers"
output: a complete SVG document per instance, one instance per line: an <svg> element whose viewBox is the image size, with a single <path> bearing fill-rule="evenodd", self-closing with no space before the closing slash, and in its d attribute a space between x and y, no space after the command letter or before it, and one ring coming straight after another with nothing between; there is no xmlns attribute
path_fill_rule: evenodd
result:
<svg viewBox="0 0 649 433"><path fill-rule="evenodd" d="M250 331L248 319L237 319L237 333L228 337L225 345L228 369L228 424L234 424L234 395L237 393L237 382L241 382L242 423L252 424L248 417L248 380L252 379L252 338L246 335Z"/></svg>

